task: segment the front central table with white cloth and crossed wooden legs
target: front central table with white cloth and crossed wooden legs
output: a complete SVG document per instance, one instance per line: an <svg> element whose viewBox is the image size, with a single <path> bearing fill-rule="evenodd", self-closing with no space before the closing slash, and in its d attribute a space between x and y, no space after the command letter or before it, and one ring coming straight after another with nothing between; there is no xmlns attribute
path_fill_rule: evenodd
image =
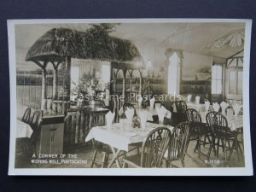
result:
<svg viewBox="0 0 256 192"><path fill-rule="evenodd" d="M85 138L85 143L91 139L95 139L98 142L108 144L113 152L113 158L108 163L108 168L113 166L115 162L117 167L120 168L119 157L131 152L129 145L132 143L143 143L147 138L148 133L162 125L149 123L146 124L146 129L141 128L129 128L125 127L123 123L115 123L108 128L107 125L92 127L89 134ZM171 131L174 127L165 125Z"/></svg>

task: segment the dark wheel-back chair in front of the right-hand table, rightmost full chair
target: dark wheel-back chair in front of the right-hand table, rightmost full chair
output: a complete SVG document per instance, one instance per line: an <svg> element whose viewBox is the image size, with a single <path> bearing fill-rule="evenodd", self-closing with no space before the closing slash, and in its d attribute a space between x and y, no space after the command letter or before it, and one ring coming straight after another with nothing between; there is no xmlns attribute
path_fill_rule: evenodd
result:
<svg viewBox="0 0 256 192"><path fill-rule="evenodd" d="M230 128L228 127L228 121L225 118L225 116L219 112L209 112L207 113L206 118L207 118L207 125L209 125L210 127L210 132L212 136L210 148L208 152L208 160L210 159L212 148L214 150L215 156L218 157L219 147L223 148L224 160L228 160L228 159L230 160L230 157L234 149L236 149L237 158L238 160L240 160L237 133L236 131L230 130ZM217 140L217 143L216 143L216 140ZM232 142L232 146L230 145L230 142ZM230 150L229 158L227 158L227 150Z"/></svg>

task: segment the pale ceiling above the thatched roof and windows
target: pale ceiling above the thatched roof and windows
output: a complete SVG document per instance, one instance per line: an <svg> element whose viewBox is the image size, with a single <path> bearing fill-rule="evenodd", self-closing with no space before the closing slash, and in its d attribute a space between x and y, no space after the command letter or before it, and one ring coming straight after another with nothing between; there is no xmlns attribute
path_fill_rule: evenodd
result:
<svg viewBox="0 0 256 192"><path fill-rule="evenodd" d="M15 40L16 48L20 49L20 53L22 52L20 59L23 60L23 54L26 53L38 38L54 27L85 31L90 25L84 23L58 23L17 26L15 28ZM241 51L243 44L237 47L211 47L209 44L221 38L226 38L233 32L243 32L244 34L244 30L245 24L237 22L121 23L115 26L115 31L111 32L110 35L131 40L133 44L137 45L141 53L145 52L145 49L153 48L159 49L160 56L163 56L167 48L172 48L183 49L186 52L199 55L228 58Z"/></svg>

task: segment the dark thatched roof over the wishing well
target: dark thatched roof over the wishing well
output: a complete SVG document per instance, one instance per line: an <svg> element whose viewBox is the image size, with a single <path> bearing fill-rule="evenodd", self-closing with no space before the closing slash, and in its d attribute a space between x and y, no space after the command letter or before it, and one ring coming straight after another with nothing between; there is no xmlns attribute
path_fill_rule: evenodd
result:
<svg viewBox="0 0 256 192"><path fill-rule="evenodd" d="M106 32L53 28L32 45L27 52L26 61L61 61L67 55L78 59L120 63L127 63L141 56L131 41L114 38Z"/></svg>

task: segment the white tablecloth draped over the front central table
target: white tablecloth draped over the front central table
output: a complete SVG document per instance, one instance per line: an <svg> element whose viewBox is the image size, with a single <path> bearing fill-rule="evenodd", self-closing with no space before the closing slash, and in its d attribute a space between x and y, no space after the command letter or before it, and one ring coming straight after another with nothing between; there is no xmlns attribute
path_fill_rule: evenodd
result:
<svg viewBox="0 0 256 192"><path fill-rule="evenodd" d="M148 133L161 125L147 123L146 131L141 129L131 128L130 131L122 130L120 124L113 124L112 129L108 129L107 126L93 127L88 136L85 138L85 142L95 139L98 142L106 143L113 148L119 148L124 151L128 151L128 146L131 143L142 143L147 137ZM172 131L173 127L168 126Z"/></svg>

